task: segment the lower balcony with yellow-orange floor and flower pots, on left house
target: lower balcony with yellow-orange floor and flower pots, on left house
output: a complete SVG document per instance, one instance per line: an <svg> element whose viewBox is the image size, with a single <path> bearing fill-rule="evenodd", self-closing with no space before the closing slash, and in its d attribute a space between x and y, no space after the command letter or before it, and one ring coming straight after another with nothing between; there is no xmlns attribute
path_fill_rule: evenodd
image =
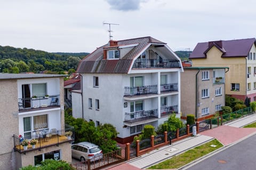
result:
<svg viewBox="0 0 256 170"><path fill-rule="evenodd" d="M49 131L49 129L48 129ZM66 132L71 132L71 136L66 136ZM42 133L37 135L31 135L28 137L23 137L23 140L27 140L29 143L32 139L36 139L37 143L34 147L31 144L28 144L27 147L24 147L21 144L21 140L19 136L13 135L13 143L14 143L14 151L18 151L19 153L26 153L34 150L41 150L42 148L51 147L53 145L59 145L61 143L72 142L74 141L75 134L74 134L74 127L65 125L65 129L55 130L46 132L45 129L41 131ZM65 135L66 133L66 135Z"/></svg>

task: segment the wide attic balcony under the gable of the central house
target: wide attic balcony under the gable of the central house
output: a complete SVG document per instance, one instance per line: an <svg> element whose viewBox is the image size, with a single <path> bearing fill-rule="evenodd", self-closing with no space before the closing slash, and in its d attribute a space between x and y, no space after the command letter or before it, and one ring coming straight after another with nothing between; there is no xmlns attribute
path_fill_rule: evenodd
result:
<svg viewBox="0 0 256 170"><path fill-rule="evenodd" d="M181 68L179 60L137 59L132 68Z"/></svg>

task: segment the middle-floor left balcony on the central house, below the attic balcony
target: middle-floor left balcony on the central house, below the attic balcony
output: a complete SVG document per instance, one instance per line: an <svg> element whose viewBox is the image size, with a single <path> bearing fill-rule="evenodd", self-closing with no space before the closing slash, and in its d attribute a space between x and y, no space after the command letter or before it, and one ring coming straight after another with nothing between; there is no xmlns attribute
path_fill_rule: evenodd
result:
<svg viewBox="0 0 256 170"><path fill-rule="evenodd" d="M140 95L140 94L157 94L157 85L140 86L140 87L124 87L124 96Z"/></svg>

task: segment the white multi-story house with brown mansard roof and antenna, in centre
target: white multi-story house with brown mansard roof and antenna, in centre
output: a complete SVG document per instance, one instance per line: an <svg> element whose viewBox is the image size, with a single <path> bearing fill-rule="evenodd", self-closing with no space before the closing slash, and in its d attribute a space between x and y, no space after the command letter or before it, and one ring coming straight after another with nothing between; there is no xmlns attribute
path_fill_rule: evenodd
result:
<svg viewBox="0 0 256 170"><path fill-rule="evenodd" d="M81 117L114 125L117 141L130 142L146 124L157 127L172 112L180 117L181 71L178 56L157 39L109 41L79 63Z"/></svg>

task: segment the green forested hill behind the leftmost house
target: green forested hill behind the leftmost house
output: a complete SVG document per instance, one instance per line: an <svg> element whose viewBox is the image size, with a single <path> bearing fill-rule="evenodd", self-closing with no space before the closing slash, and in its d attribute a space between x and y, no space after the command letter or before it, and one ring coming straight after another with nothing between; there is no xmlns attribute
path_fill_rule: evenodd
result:
<svg viewBox="0 0 256 170"><path fill-rule="evenodd" d="M49 74L77 68L81 59L89 53L49 53L28 48L0 46L0 72L34 72L47 70Z"/></svg>

